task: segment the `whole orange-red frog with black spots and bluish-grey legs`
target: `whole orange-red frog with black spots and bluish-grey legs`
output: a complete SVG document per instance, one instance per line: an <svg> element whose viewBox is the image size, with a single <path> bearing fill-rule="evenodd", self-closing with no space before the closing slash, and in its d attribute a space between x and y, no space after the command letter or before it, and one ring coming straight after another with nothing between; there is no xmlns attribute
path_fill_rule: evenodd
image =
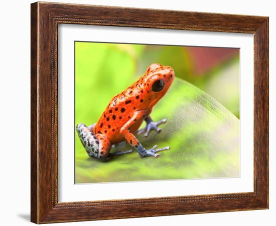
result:
<svg viewBox="0 0 276 226"><path fill-rule="evenodd" d="M161 64L151 64L146 73L137 81L115 95L95 124L77 125L77 132L86 152L90 157L105 158L110 155L129 153L132 150L109 153L112 144L124 140L134 148L141 157L160 156L157 152L168 150L169 146L146 149L135 137L135 133L149 135L151 130L158 133L158 125L165 123L166 118L154 122L150 116L153 106L165 95L175 78L172 67ZM147 125L139 129L143 121Z"/></svg>

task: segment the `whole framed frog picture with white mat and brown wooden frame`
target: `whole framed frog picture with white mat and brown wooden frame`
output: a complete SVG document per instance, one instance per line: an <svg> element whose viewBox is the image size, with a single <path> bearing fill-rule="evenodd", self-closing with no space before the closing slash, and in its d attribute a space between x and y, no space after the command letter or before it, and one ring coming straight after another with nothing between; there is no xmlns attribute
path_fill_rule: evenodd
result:
<svg viewBox="0 0 276 226"><path fill-rule="evenodd" d="M31 133L35 223L268 208L268 17L32 3Z"/></svg>

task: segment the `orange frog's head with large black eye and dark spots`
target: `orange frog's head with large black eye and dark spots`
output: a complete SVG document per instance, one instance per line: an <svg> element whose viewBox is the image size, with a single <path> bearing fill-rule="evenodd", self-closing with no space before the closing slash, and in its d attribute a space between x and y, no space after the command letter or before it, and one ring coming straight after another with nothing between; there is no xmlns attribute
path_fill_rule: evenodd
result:
<svg viewBox="0 0 276 226"><path fill-rule="evenodd" d="M150 106L154 106L166 94L174 78L175 72L171 66L153 63L148 67L144 85L149 91Z"/></svg>

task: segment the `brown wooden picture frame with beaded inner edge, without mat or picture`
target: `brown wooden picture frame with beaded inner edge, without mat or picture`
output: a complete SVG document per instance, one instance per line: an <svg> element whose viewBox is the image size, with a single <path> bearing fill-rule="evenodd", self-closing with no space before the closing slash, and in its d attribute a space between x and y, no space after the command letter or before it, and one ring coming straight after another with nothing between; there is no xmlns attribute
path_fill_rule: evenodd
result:
<svg viewBox="0 0 276 226"><path fill-rule="evenodd" d="M59 23L253 33L254 191L58 202ZM47 2L31 4L32 222L48 223L265 208L268 208L268 17Z"/></svg>

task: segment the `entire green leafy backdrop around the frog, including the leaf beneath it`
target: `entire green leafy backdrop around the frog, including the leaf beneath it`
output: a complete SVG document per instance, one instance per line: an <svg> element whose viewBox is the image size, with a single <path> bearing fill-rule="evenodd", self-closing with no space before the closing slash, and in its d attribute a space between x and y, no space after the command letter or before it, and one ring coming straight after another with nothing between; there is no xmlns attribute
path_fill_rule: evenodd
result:
<svg viewBox="0 0 276 226"><path fill-rule="evenodd" d="M75 42L75 124L96 122L109 100L153 62L175 70L151 114L168 122L158 135L137 137L146 148L171 150L160 158L133 151L100 161L88 157L75 133L76 183L239 176L237 48Z"/></svg>

